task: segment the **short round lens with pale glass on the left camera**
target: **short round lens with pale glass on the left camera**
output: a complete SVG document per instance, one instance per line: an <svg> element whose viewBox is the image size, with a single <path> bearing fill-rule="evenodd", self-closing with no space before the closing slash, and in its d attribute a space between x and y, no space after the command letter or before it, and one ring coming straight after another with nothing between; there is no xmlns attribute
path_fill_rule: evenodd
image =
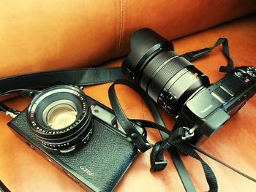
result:
<svg viewBox="0 0 256 192"><path fill-rule="evenodd" d="M54 86L35 96L27 118L42 146L55 154L82 147L93 131L89 102L80 88L70 85Z"/></svg>

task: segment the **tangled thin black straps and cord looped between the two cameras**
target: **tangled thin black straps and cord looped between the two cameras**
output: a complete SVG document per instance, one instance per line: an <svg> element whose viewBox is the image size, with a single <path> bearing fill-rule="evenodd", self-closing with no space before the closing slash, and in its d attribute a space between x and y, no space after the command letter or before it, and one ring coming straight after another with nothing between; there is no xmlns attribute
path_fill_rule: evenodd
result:
<svg viewBox="0 0 256 192"><path fill-rule="evenodd" d="M149 107L149 110L151 111L151 114L155 120L156 123L147 121L147 120L128 120L126 115L124 115L123 110L121 109L121 105L118 102L116 91L115 91L115 85L126 85L129 88L132 88L132 90L136 91L140 94L140 96L146 101L146 104ZM233 168L232 166L229 166L225 164L224 162L220 161L219 159L215 158L214 156L210 155L209 153L206 153L205 151L201 150L200 147L197 147L195 145L192 145L191 143L185 141L183 138L187 137L189 135L189 132L184 127L176 128L174 131L169 131L167 128L165 128L165 125L162 121L161 116L159 115L159 112L157 110L157 107L154 105L154 102L146 95L141 88L138 86L132 84L131 82L128 82L127 80L117 80L116 82L113 82L113 84L110 86L108 90L108 96L110 99L111 106L116 113L116 117L118 118L118 121L121 122L122 128L124 128L124 131L127 131L127 133L130 134L131 130L129 129L135 129L133 126L137 122L139 126L142 127L150 127L150 128L157 128L162 135L163 140L157 142L152 151L151 151L151 172L159 171L162 169L165 169L165 166L167 165L167 161L164 160L163 152L164 150L174 150L176 149L180 151L181 153L185 155L189 155L192 158L197 159L200 161L200 163L203 166L204 173L206 175L206 180L209 185L209 191L215 192L218 191L218 184L217 179L215 177L214 172L212 171L211 167L206 164L205 161L198 155L195 150L199 151L200 153L208 156L209 158L212 158L214 161L217 161L218 163L227 166L227 168L232 169L234 172L237 172L238 174L241 174L242 176L246 177L249 180L252 180L256 182L256 180L252 177L249 177L248 175L244 174L243 172L238 171L237 169ZM126 122L126 123L124 123ZM132 132L134 134L131 138L135 142L135 145L140 149L144 149L145 143L141 143L140 139L138 137L141 137L140 134L137 134L136 132ZM141 138L141 141L146 142L148 145L148 149L151 146L149 142L146 140L146 138ZM173 158L173 153L170 153L171 157ZM177 153L178 154L178 153ZM178 156L178 155L177 155ZM176 155L174 155L174 158L177 158ZM184 183L184 188L186 191L195 191L194 185L192 185L192 181L190 180L190 177L187 176L187 170L184 167L184 164L182 164L181 158L178 156L178 158L174 161L174 164L177 164L177 162L181 162L181 165L176 165L176 169L178 170L178 174L180 174L181 180ZM185 172L184 172L185 170Z"/></svg>

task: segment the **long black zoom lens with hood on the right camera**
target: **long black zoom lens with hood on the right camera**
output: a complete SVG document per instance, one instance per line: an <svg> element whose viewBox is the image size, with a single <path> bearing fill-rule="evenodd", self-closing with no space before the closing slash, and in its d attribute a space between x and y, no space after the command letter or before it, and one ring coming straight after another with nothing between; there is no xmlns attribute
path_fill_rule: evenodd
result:
<svg viewBox="0 0 256 192"><path fill-rule="evenodd" d="M167 112L180 112L189 96L209 85L205 74L174 52L171 42L150 28L132 34L130 47L122 64L124 75Z"/></svg>

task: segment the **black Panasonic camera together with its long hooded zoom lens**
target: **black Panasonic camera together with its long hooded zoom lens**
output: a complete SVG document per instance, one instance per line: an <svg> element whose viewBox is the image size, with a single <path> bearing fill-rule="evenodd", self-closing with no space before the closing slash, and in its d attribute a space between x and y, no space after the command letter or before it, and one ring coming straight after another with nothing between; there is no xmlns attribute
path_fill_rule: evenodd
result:
<svg viewBox="0 0 256 192"><path fill-rule="evenodd" d="M184 139L194 144L214 134L255 94L255 67L237 67L210 85L206 74L150 28L132 34L130 46L122 64L125 76L167 112L176 114L174 128L188 128Z"/></svg>

